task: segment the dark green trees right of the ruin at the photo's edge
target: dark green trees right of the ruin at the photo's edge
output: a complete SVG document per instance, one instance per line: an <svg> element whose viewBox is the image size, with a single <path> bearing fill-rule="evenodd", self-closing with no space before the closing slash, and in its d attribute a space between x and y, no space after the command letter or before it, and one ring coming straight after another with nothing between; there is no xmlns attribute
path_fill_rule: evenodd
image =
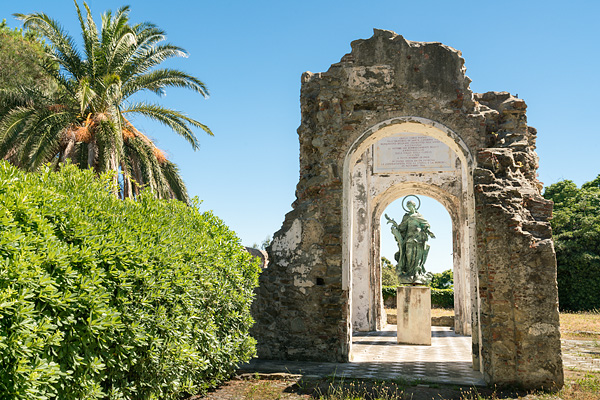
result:
<svg viewBox="0 0 600 400"><path fill-rule="evenodd" d="M560 308L600 309L600 175L581 188L570 180L557 182L544 197L554 201L550 222Z"/></svg>

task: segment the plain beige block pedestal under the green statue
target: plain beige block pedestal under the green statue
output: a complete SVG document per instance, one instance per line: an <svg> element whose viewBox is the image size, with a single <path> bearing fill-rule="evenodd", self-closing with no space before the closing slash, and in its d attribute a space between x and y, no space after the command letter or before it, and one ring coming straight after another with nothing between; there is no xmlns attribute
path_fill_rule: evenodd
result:
<svg viewBox="0 0 600 400"><path fill-rule="evenodd" d="M398 343L431 346L431 289L425 286L399 286Z"/></svg>

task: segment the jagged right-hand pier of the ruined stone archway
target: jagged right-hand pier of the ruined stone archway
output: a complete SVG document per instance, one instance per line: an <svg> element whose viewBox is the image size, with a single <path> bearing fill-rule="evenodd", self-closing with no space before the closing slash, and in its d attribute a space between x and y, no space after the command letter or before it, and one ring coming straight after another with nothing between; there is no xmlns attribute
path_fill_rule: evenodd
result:
<svg viewBox="0 0 600 400"><path fill-rule="evenodd" d="M536 179L537 132L523 100L475 98L488 140L474 171L483 371L497 383L562 386L552 202Z"/></svg>

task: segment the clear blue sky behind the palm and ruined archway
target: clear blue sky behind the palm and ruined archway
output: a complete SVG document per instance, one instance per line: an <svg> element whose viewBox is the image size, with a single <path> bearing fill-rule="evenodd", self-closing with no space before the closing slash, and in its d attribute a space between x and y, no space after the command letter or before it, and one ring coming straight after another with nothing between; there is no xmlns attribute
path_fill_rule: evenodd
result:
<svg viewBox="0 0 600 400"><path fill-rule="evenodd" d="M136 126L177 163L202 210L214 210L246 245L281 227L298 182L300 75L326 71L373 28L461 50L475 92L518 94L538 129L540 180L578 185L600 173L600 2L589 1L155 1L90 0L95 16L131 6L190 57L170 66L208 85L211 97L171 90L157 99L207 124L201 148L146 121ZM0 2L0 19L43 11L78 35L71 0ZM148 99L155 97L151 94ZM449 217L435 204L421 212L438 236L428 270L451 266ZM402 211L390 215L401 218ZM445 215L444 215L445 214ZM382 234L388 232L383 227ZM391 240L391 235L389 240ZM392 242L393 244L393 242ZM386 248L388 250L386 250ZM438 254L439 253L439 254ZM384 255L393 246L384 244Z"/></svg>

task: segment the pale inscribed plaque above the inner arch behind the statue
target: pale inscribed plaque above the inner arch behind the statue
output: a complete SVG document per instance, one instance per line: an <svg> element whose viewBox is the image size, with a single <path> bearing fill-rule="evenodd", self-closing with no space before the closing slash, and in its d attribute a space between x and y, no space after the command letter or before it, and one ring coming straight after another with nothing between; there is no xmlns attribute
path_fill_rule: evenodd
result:
<svg viewBox="0 0 600 400"><path fill-rule="evenodd" d="M430 136L405 133L375 144L375 173L451 171L452 150Z"/></svg>

